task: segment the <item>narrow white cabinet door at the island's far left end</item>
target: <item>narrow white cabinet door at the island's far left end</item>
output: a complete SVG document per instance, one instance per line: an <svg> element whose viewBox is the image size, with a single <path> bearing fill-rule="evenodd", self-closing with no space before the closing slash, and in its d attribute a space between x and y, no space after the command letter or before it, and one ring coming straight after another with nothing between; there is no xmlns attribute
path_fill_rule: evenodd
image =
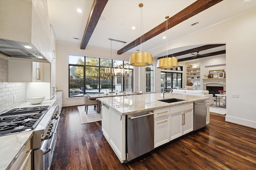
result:
<svg viewBox="0 0 256 170"><path fill-rule="evenodd" d="M106 106L105 104L102 104L101 108L101 117L102 117L102 123L101 123L101 128L102 128L102 133L104 137L106 138L107 141L109 141L109 107Z"/></svg>

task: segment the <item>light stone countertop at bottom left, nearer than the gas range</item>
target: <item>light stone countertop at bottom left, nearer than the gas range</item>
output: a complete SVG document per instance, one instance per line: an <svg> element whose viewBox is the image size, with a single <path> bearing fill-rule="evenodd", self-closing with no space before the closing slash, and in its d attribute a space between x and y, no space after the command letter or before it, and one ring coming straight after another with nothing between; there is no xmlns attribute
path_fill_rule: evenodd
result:
<svg viewBox="0 0 256 170"><path fill-rule="evenodd" d="M32 138L33 131L0 137L0 170L10 168L22 147Z"/></svg>

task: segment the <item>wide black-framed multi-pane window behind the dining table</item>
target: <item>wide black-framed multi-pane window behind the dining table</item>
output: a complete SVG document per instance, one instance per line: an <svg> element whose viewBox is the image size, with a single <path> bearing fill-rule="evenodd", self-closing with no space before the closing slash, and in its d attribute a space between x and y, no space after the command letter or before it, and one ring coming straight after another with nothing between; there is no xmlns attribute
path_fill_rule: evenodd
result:
<svg viewBox="0 0 256 170"><path fill-rule="evenodd" d="M69 97L106 91L133 91L133 66L129 62L69 55Z"/></svg>

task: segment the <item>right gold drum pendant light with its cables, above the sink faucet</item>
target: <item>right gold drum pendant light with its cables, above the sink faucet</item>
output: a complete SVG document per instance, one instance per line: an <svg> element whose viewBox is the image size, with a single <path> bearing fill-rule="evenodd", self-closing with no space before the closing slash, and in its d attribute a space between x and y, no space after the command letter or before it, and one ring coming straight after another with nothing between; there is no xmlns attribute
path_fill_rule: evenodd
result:
<svg viewBox="0 0 256 170"><path fill-rule="evenodd" d="M168 30L168 18L169 16L166 16L166 34ZM168 57L168 36L166 35L166 57L158 59L157 60L157 68L175 68L178 67L178 59L175 57Z"/></svg>

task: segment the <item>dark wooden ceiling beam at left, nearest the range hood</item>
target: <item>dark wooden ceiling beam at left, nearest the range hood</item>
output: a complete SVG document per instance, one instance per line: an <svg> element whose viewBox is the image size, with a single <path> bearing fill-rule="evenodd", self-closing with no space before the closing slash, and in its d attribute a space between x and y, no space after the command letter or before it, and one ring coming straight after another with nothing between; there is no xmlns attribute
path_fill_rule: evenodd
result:
<svg viewBox="0 0 256 170"><path fill-rule="evenodd" d="M80 49L84 50L86 48L107 2L108 0L93 1L90 16L88 17L84 35L80 44Z"/></svg>

